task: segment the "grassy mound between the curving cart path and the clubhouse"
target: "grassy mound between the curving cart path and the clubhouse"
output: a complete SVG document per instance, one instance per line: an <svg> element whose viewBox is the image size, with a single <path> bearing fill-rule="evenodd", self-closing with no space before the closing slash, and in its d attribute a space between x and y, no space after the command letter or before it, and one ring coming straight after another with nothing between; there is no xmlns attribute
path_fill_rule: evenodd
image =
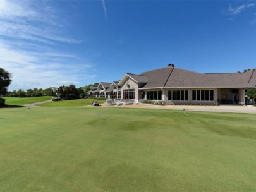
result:
<svg viewBox="0 0 256 192"><path fill-rule="evenodd" d="M95 100L95 99L75 99L75 100L61 100L56 102L49 102L46 104L39 104L38 106L44 107L78 107L78 106L86 106L91 105L93 101L99 102L99 104L103 104L104 100Z"/></svg>

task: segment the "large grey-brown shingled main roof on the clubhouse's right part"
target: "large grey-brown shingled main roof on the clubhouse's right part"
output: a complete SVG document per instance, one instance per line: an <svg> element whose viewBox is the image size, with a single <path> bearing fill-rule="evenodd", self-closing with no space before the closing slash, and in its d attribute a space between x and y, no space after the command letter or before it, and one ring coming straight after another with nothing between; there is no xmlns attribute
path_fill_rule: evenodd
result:
<svg viewBox="0 0 256 192"><path fill-rule="evenodd" d="M140 74L148 77L142 88L255 87L256 71L204 74L168 66ZM238 76L236 76L238 75ZM250 83L248 83L250 82Z"/></svg>

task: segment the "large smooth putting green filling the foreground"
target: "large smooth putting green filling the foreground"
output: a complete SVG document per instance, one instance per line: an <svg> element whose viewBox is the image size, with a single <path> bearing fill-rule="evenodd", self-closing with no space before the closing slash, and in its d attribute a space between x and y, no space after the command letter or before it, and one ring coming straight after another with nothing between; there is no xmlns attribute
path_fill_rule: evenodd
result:
<svg viewBox="0 0 256 192"><path fill-rule="evenodd" d="M256 191L255 124L255 114L0 109L0 190Z"/></svg>

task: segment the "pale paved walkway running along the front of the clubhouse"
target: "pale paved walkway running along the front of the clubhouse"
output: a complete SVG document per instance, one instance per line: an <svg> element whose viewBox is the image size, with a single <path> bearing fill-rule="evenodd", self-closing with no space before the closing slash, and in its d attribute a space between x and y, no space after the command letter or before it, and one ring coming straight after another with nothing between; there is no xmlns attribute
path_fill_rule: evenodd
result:
<svg viewBox="0 0 256 192"><path fill-rule="evenodd" d="M220 106L186 106L186 105L150 105L150 104L132 104L115 107L132 107L146 109L173 109L185 111L212 111L212 112L236 112L236 113L252 113L256 114L256 107L247 105L220 105Z"/></svg>

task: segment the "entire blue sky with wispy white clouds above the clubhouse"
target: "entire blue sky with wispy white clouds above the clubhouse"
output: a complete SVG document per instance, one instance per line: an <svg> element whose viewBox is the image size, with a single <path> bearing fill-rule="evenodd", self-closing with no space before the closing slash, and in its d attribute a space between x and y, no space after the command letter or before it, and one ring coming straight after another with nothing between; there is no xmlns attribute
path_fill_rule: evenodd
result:
<svg viewBox="0 0 256 192"><path fill-rule="evenodd" d="M9 90L119 80L169 63L256 68L256 1L0 0Z"/></svg>

